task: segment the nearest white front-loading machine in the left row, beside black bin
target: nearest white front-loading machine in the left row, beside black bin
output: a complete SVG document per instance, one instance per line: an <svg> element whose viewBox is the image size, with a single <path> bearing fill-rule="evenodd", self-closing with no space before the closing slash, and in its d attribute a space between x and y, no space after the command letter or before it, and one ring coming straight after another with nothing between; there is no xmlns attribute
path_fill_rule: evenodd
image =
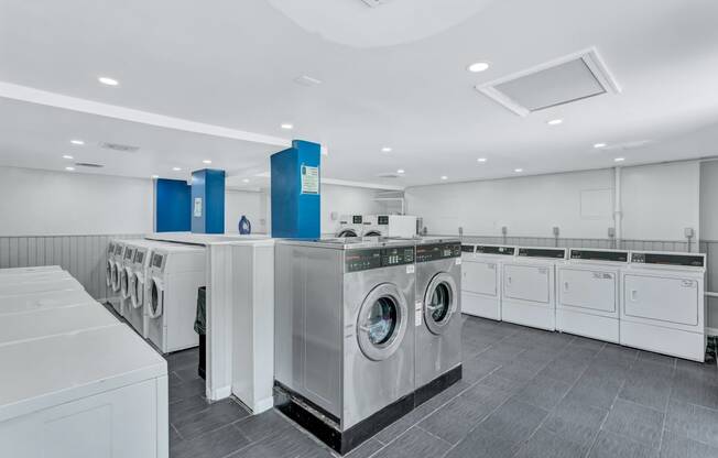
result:
<svg viewBox="0 0 718 458"><path fill-rule="evenodd" d="M152 252L148 338L168 353L199 345L194 330L197 293L206 286L204 247L166 246Z"/></svg>

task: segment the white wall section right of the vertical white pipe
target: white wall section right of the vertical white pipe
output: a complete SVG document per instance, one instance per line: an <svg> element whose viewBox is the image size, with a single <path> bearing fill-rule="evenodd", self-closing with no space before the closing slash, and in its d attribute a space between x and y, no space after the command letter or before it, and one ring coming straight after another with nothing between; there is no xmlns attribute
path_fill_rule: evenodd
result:
<svg viewBox="0 0 718 458"><path fill-rule="evenodd" d="M683 240L700 227L700 163L623 168L623 238Z"/></svg>

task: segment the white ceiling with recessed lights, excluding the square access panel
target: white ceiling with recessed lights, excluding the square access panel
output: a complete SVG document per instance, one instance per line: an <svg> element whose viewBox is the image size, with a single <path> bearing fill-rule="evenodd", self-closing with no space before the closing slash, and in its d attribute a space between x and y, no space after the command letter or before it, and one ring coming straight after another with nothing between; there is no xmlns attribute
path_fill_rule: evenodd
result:
<svg viewBox="0 0 718 458"><path fill-rule="evenodd" d="M329 151L326 177L411 186L717 154L717 17L712 0L391 0L374 9L360 0L0 0L0 81L279 143L317 141ZM621 94L521 118L474 89L591 46ZM466 72L476 61L491 67ZM99 85L100 75L120 85ZM323 84L295 84L302 75ZM265 170L282 149L18 100L0 99L0 117L6 165L59 167L68 139L80 137L141 146L131 157L93 156L107 161L101 173L170 176L175 163L199 168L211 152L213 166L239 177ZM547 126L554 118L564 123ZM377 177L398 168L403 178Z"/></svg>

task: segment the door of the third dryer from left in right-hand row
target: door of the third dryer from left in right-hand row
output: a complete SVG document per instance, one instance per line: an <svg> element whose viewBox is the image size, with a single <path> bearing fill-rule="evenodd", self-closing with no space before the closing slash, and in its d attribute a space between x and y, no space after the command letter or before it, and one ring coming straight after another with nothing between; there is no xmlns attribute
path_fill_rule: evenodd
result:
<svg viewBox="0 0 718 458"><path fill-rule="evenodd" d="M616 272L610 271L559 269L559 304L599 312L616 312L617 276Z"/></svg>

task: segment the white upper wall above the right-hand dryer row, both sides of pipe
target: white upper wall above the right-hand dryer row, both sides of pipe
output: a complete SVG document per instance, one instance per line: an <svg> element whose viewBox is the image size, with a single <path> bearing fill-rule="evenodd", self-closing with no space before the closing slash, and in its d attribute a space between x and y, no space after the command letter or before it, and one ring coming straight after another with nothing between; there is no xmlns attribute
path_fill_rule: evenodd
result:
<svg viewBox="0 0 718 458"><path fill-rule="evenodd" d="M698 231L697 162L624 167L623 238L684 240ZM613 227L613 170L420 186L406 189L407 212L429 233L513 237L608 237Z"/></svg>

